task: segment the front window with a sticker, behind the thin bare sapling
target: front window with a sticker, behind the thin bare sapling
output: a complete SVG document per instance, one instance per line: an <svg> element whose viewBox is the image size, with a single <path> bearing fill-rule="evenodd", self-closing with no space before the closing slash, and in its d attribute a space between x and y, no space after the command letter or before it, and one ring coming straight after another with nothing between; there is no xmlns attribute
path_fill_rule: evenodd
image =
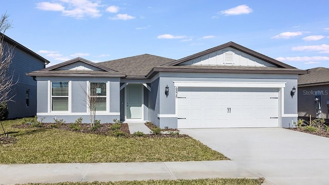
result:
<svg viewBox="0 0 329 185"><path fill-rule="evenodd" d="M105 82L90 82L90 102L94 103L96 110L106 111ZM93 105L91 107L93 107Z"/></svg>

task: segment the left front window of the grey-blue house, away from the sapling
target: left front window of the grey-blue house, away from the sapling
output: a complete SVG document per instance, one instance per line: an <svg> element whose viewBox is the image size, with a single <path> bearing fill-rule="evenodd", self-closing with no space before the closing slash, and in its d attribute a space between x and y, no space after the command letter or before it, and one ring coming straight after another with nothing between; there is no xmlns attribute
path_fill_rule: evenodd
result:
<svg viewBox="0 0 329 185"><path fill-rule="evenodd" d="M51 110L68 110L68 82L51 82Z"/></svg>

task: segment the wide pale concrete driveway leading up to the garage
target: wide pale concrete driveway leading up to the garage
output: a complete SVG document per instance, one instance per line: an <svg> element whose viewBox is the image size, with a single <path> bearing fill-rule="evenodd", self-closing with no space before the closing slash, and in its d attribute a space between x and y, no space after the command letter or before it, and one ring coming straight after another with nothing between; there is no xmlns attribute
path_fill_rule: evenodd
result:
<svg viewBox="0 0 329 185"><path fill-rule="evenodd" d="M285 128L180 129L266 184L329 184L329 138Z"/></svg>

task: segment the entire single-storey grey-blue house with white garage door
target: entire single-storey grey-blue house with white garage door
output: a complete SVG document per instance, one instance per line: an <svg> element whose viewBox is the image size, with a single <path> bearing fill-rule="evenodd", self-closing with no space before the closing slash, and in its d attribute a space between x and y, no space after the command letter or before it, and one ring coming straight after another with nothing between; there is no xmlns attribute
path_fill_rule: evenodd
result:
<svg viewBox="0 0 329 185"><path fill-rule="evenodd" d="M150 54L93 63L76 58L28 75L39 118L89 121L85 91L98 86L102 123L152 121L161 128L291 127L296 69L229 42L179 60ZM87 90L86 90L87 89Z"/></svg>

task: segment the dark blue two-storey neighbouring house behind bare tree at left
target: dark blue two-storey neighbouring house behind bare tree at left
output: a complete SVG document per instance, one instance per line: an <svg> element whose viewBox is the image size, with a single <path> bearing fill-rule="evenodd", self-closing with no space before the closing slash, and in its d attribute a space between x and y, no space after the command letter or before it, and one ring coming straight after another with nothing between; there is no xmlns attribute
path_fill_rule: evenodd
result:
<svg viewBox="0 0 329 185"><path fill-rule="evenodd" d="M2 34L2 33L0 33ZM13 101L8 102L8 118L22 118L36 115L36 81L26 76L26 73L41 70L49 63L39 54L25 46L4 36L4 44L13 54L12 63L8 73L13 75L13 83L10 97Z"/></svg>

